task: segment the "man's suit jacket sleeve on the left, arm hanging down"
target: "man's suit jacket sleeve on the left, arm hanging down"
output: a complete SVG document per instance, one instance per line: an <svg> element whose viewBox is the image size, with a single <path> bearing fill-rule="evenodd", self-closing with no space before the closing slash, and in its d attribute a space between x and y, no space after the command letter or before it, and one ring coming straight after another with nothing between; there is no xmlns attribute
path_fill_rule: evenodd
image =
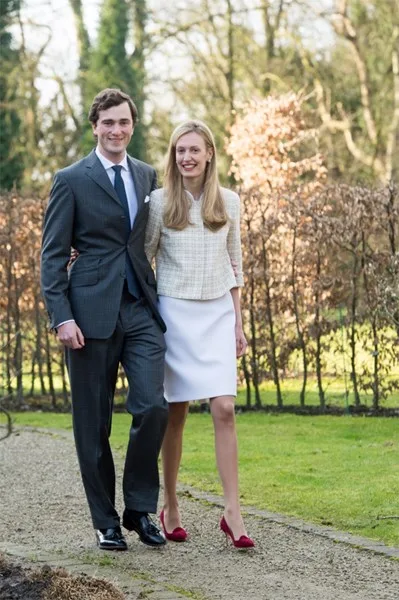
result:
<svg viewBox="0 0 399 600"><path fill-rule="evenodd" d="M41 252L41 287L51 328L74 318L67 296L74 214L72 190L58 173L44 217Z"/></svg>

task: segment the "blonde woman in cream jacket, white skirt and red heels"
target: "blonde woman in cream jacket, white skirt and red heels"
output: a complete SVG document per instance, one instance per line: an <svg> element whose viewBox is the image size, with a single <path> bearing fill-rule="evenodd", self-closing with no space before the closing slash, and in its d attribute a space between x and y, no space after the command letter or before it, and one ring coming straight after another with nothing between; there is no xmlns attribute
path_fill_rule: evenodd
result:
<svg viewBox="0 0 399 600"><path fill-rule="evenodd" d="M219 185L214 139L201 121L188 121L173 132L164 183L151 194L146 233L147 258L151 262L155 256L159 309L168 328L161 523L167 539L186 540L176 493L183 428L189 402L210 398L225 501L220 528L234 546L249 548L254 543L240 512L234 415L236 357L247 346L239 298L239 198Z"/></svg>

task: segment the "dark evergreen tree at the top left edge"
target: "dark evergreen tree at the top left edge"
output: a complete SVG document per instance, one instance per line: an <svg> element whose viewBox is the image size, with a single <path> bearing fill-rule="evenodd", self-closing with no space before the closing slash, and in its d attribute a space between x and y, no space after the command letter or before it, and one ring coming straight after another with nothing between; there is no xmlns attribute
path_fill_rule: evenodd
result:
<svg viewBox="0 0 399 600"><path fill-rule="evenodd" d="M21 126L13 103L16 96L15 71L19 62L18 51L13 48L9 26L20 9L21 0L0 1L0 188L10 190L19 186L23 174L22 153L17 140Z"/></svg>

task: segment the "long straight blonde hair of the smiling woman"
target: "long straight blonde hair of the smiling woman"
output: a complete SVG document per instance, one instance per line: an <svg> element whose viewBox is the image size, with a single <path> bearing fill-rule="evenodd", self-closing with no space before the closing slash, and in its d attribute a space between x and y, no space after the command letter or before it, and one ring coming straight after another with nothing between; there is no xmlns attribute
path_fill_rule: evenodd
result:
<svg viewBox="0 0 399 600"><path fill-rule="evenodd" d="M198 133L204 140L206 148L212 150L212 158L207 163L205 170L202 220L208 229L217 231L226 225L228 216L220 191L216 168L215 141L209 127L202 121L197 120L186 121L182 125L179 125L170 138L164 176L164 187L167 198L164 224L166 227L178 230L185 229L185 227L190 225L190 202L183 187L183 177L177 168L176 145L182 135L192 132Z"/></svg>

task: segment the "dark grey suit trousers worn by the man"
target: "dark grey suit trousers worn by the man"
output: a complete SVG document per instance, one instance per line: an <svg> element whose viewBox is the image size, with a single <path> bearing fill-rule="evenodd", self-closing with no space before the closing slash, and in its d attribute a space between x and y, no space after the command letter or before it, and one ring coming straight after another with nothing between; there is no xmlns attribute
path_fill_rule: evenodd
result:
<svg viewBox="0 0 399 600"><path fill-rule="evenodd" d="M126 508L155 513L159 494L158 456L168 409L163 395L165 341L142 300L124 292L118 322L109 339L86 339L67 349L73 429L93 525L119 525L115 510L115 468L109 444L119 364L128 383L132 415L123 474Z"/></svg>

